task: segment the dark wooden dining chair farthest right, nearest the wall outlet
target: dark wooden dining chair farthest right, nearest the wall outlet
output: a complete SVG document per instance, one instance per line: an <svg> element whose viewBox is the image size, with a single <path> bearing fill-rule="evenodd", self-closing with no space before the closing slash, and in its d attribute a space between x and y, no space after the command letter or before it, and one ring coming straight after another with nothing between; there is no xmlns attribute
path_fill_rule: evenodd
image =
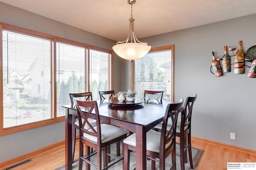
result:
<svg viewBox="0 0 256 170"><path fill-rule="evenodd" d="M193 169L193 160L192 160L192 149L191 149L191 117L192 117L192 109L194 106L194 102L196 101L197 94L194 94L193 97L187 97L184 102L183 110L181 112L181 116L177 121L177 129L176 136L180 137L180 166L181 170L185 169L185 163L190 162L190 168ZM168 126L171 126L168 123ZM162 128L162 123L156 125L153 129L156 131L160 131Z"/></svg>

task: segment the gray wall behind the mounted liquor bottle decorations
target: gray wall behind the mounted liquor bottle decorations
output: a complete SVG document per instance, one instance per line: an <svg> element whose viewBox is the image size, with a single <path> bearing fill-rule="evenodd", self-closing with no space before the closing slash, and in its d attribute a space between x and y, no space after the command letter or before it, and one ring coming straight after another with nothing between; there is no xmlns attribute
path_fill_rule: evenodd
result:
<svg viewBox="0 0 256 170"><path fill-rule="evenodd" d="M256 45L255 30L253 14L141 39L152 47L174 45L174 100L198 95L192 136L256 150L256 78L246 76L248 67L244 74L234 74L234 65L220 77L210 72L212 51L224 55L225 45L238 45L242 40L246 52ZM129 62L123 60L122 66L129 68ZM129 78L122 80L122 90L130 87L129 82ZM230 139L230 132L236 133L236 140Z"/></svg>

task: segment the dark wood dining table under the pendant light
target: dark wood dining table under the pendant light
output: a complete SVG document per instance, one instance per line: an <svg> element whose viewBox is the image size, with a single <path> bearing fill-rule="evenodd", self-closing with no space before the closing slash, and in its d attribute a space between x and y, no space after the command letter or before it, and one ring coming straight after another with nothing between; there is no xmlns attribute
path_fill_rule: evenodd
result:
<svg viewBox="0 0 256 170"><path fill-rule="evenodd" d="M136 169L146 170L146 132L163 121L166 106L171 101L135 99L140 104L120 104L117 99L102 100L98 102L100 121L122 127L136 133ZM72 169L74 138L74 115L77 115L76 107L64 105L66 110L65 120L65 169Z"/></svg>

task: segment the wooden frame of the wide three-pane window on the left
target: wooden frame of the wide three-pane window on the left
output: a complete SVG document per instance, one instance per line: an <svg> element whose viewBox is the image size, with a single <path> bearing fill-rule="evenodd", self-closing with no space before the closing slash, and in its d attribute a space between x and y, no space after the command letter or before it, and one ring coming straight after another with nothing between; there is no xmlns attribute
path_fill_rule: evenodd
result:
<svg viewBox="0 0 256 170"><path fill-rule="evenodd" d="M109 63L110 64L110 68L111 68L111 72L109 72L109 76L110 76L110 89L113 88L113 72L112 72L112 68L113 68L113 51L112 50L109 50L109 49L104 49L104 48L101 48L101 47L96 47L96 46L93 46L93 45L88 45L88 44L85 44L85 43L81 43L81 42L78 42L78 41L73 41L73 40L69 40L69 39L65 39L65 38L61 38L61 37L57 37L57 36L54 36L54 35L49 35L49 34L46 34L46 33L41 33L41 32L38 32L38 31L33 31L33 30L30 30L30 29L26 29L26 28L22 28L22 27L18 27L18 26L14 26L14 25L10 25L10 24L6 24L6 23L2 23L0 22L0 58L2 59L3 58L3 47L2 47L2 31L3 30L8 30L8 31L13 31L13 32L16 32L16 33L22 33L22 34L26 34L26 35L29 35L29 36L34 36L34 37L40 37L42 39L52 39L53 41L53 51L52 51L52 63L51 63L51 82L52 85L51 85L51 89L52 89L52 101L51 101L51 104L52 104L52 113L53 113L53 116L51 119L48 119L48 120L43 120L43 121L36 121L36 122L33 122L33 123L28 123L28 124L24 124L24 125L18 125L18 126L14 126L14 127L8 127L8 128L3 128L3 123L4 123L4 114L3 114L3 102L0 102L0 136L2 135L8 135L8 134L11 134L11 133L16 133L16 132L20 132L20 131L24 131L24 130L28 130L28 129L33 129L33 128L36 128L36 127L42 127L42 126L45 126L45 125L50 125L50 124L53 124L53 123L58 123L58 122L62 122L62 121L65 121L65 116L62 116L62 117L57 117L57 113L56 113L56 106L57 106L57 98L56 98L56 95L57 95L57 92L56 92L56 88L57 88L57 85L56 85L56 43L57 42L60 42L60 43L66 43L66 44L69 44L69 45L75 45L75 46L80 46L80 47L84 47L84 48L87 48L88 49L88 56L86 56L86 63L85 63L85 77L86 78L89 78L87 77L88 74L89 74L89 66L86 65L89 61L89 57L90 57L90 49L94 49L94 50L97 50L97 51L103 51L103 52L106 52L106 53L109 53L110 54L110 57L111 57L111 62ZM86 79L86 90L90 91L90 81L88 81L89 79ZM1 62L0 63L0 99L1 101L3 101L3 63Z"/></svg>

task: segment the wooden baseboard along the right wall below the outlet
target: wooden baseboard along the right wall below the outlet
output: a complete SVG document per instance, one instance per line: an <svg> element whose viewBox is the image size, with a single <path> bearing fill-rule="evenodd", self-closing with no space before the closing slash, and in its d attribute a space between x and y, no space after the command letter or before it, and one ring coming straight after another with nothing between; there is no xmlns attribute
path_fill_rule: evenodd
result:
<svg viewBox="0 0 256 170"><path fill-rule="evenodd" d="M234 150L238 150L240 152L245 152L245 153L248 153L248 154L255 154L256 155L256 150L252 150L252 149L237 147L237 146L234 146L234 145L229 145L229 144L226 144L226 143L211 141L211 140L203 139L203 138L200 138L200 137L193 137L192 136L191 139L194 140L194 141L209 143L211 145L217 145L217 146L220 146L220 147L224 147L224 148L228 148L228 149L234 149Z"/></svg>

